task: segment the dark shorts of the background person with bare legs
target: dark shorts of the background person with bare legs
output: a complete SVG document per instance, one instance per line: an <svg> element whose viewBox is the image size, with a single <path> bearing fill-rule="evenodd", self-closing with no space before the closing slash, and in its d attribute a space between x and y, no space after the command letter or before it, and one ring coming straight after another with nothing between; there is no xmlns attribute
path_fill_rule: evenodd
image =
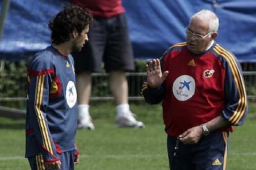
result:
<svg viewBox="0 0 256 170"><path fill-rule="evenodd" d="M88 39L80 52L72 53L76 73L100 72L103 62L107 72L134 70L134 55L124 14L111 18L95 17Z"/></svg>

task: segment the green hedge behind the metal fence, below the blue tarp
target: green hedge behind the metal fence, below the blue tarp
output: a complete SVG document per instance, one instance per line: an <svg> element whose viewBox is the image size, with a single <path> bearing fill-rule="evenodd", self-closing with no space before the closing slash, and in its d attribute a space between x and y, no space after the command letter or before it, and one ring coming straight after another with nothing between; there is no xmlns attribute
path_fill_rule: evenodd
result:
<svg viewBox="0 0 256 170"><path fill-rule="evenodd" d="M145 60L135 60L135 71L127 76L129 84L129 96L140 96L140 87L145 75L135 75L135 73L145 73ZM9 100L0 100L0 105L5 107L25 108L25 98L27 95L27 61L9 62L2 61L0 69L0 99L10 98ZM3 65L4 63L4 65ZM101 67L101 74L93 76L92 97L111 97L109 91L108 74ZM243 71L256 71L256 63L242 63ZM256 95L255 80L256 75L245 75L245 86L248 95ZM22 98L17 100L17 98Z"/></svg>

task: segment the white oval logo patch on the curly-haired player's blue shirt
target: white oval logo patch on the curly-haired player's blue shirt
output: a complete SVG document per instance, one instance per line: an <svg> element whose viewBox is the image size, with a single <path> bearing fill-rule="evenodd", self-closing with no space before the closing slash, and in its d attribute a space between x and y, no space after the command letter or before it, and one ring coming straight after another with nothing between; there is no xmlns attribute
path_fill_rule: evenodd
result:
<svg viewBox="0 0 256 170"><path fill-rule="evenodd" d="M75 89L75 83L73 81L67 83L66 100L70 108L74 107L77 102L77 89Z"/></svg>

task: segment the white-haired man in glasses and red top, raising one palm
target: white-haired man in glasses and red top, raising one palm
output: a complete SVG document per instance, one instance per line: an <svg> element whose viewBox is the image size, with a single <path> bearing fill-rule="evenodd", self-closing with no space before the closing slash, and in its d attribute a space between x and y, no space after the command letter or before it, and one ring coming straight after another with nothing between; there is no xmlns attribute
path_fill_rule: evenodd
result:
<svg viewBox="0 0 256 170"><path fill-rule="evenodd" d="M215 42L219 19L210 10L190 18L186 42L146 65L142 94L163 101L169 168L226 169L229 132L247 116L247 95L236 57Z"/></svg>

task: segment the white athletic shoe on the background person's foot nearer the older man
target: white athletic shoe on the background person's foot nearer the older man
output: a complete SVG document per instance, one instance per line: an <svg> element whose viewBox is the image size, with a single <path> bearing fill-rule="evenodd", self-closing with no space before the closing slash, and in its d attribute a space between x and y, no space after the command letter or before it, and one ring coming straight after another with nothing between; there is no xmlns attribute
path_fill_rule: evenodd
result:
<svg viewBox="0 0 256 170"><path fill-rule="evenodd" d="M134 113L128 112L116 116L116 127L145 127L141 121L137 121L134 118Z"/></svg>

